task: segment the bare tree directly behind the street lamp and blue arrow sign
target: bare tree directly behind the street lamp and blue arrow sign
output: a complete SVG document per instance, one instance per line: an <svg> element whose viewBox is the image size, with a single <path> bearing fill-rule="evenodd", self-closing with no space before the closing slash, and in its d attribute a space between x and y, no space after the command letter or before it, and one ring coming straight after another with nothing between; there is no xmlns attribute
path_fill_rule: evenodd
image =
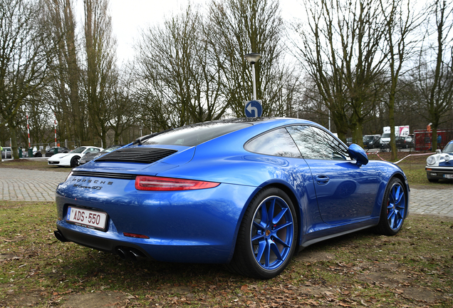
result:
<svg viewBox="0 0 453 308"><path fill-rule="evenodd" d="M298 74L284 61L285 28L278 1L213 0L209 6L209 32L213 60L222 74L219 82L234 116L244 116L251 99L251 68L246 53L261 53L255 63L256 96L264 116L286 116L288 101L298 91Z"/></svg>

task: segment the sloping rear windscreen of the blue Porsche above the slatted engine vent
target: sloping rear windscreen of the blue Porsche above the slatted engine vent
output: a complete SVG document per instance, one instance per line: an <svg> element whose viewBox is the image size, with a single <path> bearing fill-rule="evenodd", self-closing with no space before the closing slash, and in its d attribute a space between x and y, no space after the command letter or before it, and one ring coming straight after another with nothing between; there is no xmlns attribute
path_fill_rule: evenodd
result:
<svg viewBox="0 0 453 308"><path fill-rule="evenodd" d="M194 146L251 125L251 123L200 123L161 133L145 140L143 144Z"/></svg>

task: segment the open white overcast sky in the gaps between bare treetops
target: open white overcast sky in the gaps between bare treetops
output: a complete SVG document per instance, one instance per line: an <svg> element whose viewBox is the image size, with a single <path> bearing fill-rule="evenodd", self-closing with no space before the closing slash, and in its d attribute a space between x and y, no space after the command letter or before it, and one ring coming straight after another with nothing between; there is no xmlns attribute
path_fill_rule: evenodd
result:
<svg viewBox="0 0 453 308"><path fill-rule="evenodd" d="M83 5L83 1L78 4ZM302 15L302 7L297 0L281 0L280 6L283 19L292 19ZM118 43L118 64L127 59L132 60L132 46L139 38L140 29L146 29L152 24L159 24L165 17L178 13L186 7L188 0L110 0L110 14L112 16L113 34ZM192 4L206 5L207 0L192 0ZM82 9L83 10L83 9ZM80 15L80 24L83 24L83 14Z"/></svg>

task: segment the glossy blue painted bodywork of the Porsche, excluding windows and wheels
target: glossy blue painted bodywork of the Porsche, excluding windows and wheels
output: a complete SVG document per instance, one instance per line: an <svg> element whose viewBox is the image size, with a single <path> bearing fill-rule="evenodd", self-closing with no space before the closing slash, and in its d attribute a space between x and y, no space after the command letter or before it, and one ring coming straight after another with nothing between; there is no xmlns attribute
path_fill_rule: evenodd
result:
<svg viewBox="0 0 453 308"><path fill-rule="evenodd" d="M392 177L406 182L409 199L405 175L391 163L370 161L359 166L355 160L287 158L244 148L251 138L285 125L314 125L325 130L316 123L279 119L252 124L194 146L123 147L177 150L155 163L96 159L75 168L56 190L58 230L66 240L99 250L114 252L116 247L127 246L155 260L227 263L234 254L246 207L262 188L276 186L293 200L300 247L377 225L385 188ZM135 189L136 175L220 185L204 190L141 191ZM106 230L69 223L68 206L106 212ZM149 238L127 237L124 232Z"/></svg>

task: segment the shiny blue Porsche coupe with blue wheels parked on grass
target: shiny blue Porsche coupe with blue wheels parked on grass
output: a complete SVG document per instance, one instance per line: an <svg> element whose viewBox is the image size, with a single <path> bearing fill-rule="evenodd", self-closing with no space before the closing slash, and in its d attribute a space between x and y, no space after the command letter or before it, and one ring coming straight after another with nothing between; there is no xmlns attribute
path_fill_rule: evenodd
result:
<svg viewBox="0 0 453 308"><path fill-rule="evenodd" d="M56 190L55 235L123 259L281 273L296 250L409 213L402 170L368 161L321 125L231 119L147 135L74 168Z"/></svg>

